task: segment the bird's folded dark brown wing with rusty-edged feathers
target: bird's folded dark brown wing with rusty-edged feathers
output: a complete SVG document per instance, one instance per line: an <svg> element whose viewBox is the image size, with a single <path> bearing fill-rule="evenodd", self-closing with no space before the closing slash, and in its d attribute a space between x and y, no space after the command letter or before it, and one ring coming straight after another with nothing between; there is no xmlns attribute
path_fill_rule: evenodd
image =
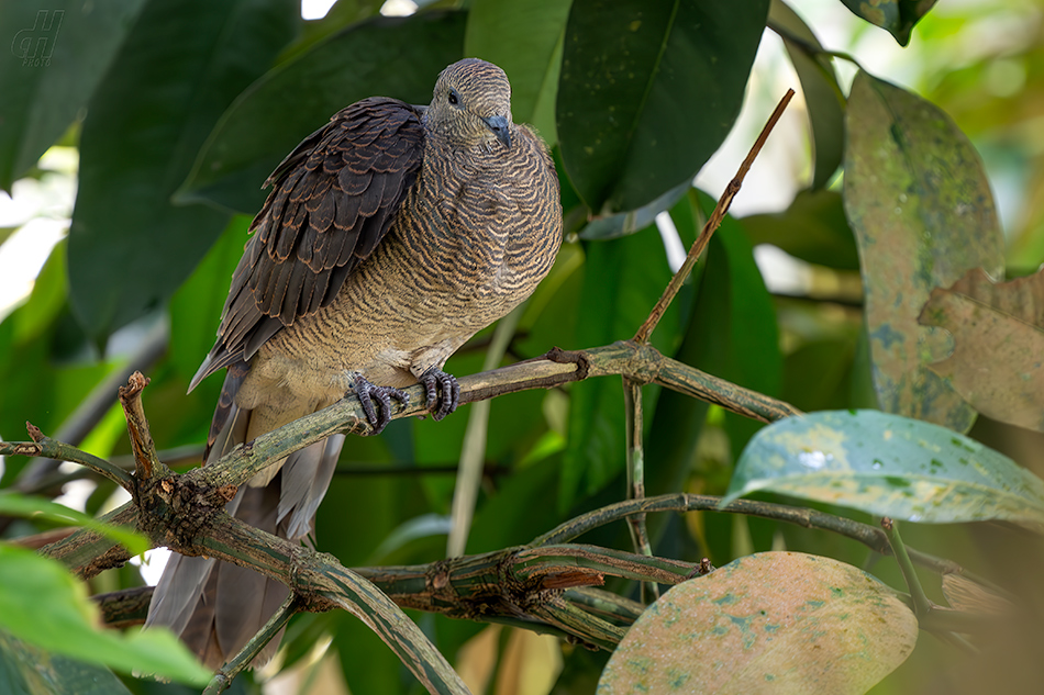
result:
<svg viewBox="0 0 1044 695"><path fill-rule="evenodd" d="M423 148L419 110L374 97L338 112L276 167L232 276L218 343L189 390L334 300L388 232Z"/></svg>

